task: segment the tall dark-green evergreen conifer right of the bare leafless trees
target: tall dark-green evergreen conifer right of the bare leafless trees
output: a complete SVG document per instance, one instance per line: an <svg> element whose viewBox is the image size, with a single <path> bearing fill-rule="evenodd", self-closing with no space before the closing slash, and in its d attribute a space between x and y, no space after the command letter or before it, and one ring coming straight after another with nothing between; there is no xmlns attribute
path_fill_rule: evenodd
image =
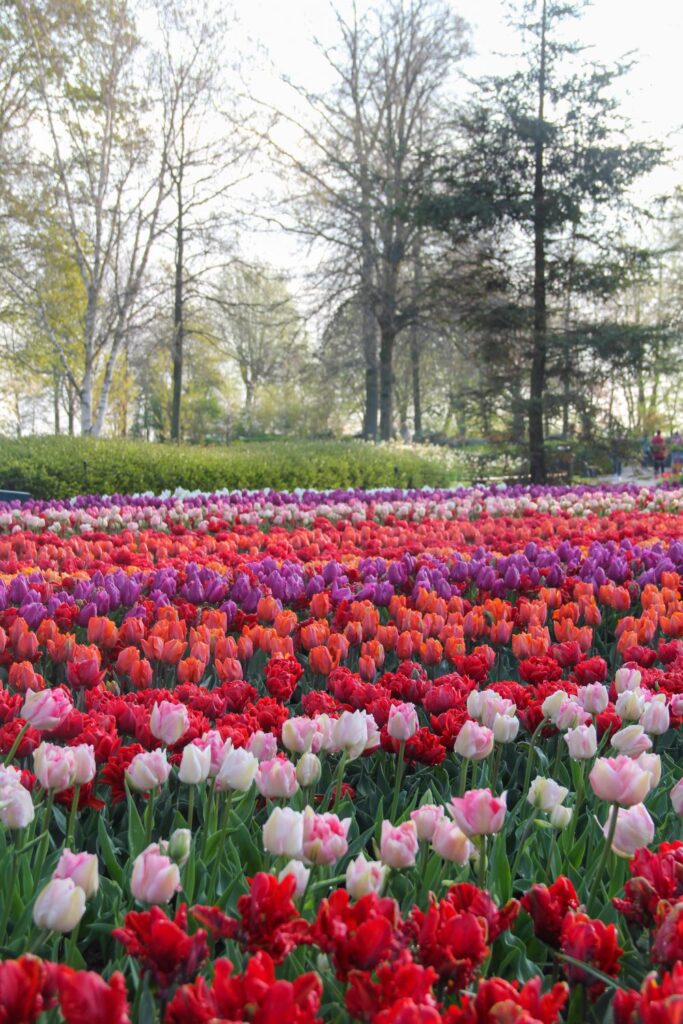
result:
<svg viewBox="0 0 683 1024"><path fill-rule="evenodd" d="M561 297L568 274L584 319L592 299L624 287L635 254L618 245L618 213L634 181L661 160L659 146L625 141L611 87L627 68L586 61L564 40L563 23L582 6L560 0L520 6L523 65L478 83L474 103L458 119L463 144L444 169L442 189L423 208L432 224L450 227L456 220L517 240L535 481L546 477L545 402L558 332L566 328ZM567 245L572 236L581 239L579 250Z"/></svg>

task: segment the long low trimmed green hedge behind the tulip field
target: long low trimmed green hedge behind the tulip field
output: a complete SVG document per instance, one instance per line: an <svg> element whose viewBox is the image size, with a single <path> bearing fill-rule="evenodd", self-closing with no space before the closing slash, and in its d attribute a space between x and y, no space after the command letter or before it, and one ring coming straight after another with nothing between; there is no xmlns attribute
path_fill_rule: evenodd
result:
<svg viewBox="0 0 683 1024"><path fill-rule="evenodd" d="M453 480L438 451L364 441L237 441L215 447L91 437L0 438L0 488L34 498L175 487L418 487Z"/></svg>

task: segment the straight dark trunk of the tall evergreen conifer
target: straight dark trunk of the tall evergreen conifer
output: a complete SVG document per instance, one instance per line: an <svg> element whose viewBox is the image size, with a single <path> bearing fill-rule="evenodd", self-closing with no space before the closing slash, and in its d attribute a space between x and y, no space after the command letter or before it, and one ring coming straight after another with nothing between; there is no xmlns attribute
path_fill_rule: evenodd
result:
<svg viewBox="0 0 683 1024"><path fill-rule="evenodd" d="M541 27L539 69L539 117L533 158L533 345L528 401L529 470L532 483L545 483L546 449L543 399L548 356L546 307L546 203L544 183L544 113L546 96L546 0Z"/></svg>

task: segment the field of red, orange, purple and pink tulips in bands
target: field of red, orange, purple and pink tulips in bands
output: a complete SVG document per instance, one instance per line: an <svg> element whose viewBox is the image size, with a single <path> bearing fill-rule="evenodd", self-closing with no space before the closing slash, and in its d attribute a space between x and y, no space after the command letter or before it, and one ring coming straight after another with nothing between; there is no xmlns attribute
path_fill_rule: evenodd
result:
<svg viewBox="0 0 683 1024"><path fill-rule="evenodd" d="M682 513L0 505L0 1024L683 1022Z"/></svg>

